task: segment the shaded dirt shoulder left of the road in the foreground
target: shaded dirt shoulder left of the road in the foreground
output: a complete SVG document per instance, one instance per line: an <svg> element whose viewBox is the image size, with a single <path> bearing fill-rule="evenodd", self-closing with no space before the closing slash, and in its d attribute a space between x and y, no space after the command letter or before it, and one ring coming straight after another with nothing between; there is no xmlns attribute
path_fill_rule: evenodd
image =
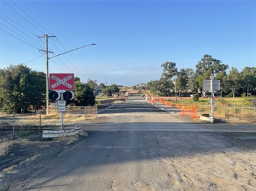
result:
<svg viewBox="0 0 256 191"><path fill-rule="evenodd" d="M31 175L45 171L83 136L53 140L42 139L42 133L37 132L12 140L12 131L0 131L0 190L13 190Z"/></svg>

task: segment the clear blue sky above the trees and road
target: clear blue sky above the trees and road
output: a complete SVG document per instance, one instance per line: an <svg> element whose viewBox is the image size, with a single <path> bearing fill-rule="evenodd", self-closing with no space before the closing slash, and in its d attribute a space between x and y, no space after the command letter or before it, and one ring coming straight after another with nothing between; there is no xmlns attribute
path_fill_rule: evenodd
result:
<svg viewBox="0 0 256 191"><path fill-rule="evenodd" d="M256 67L256 0L0 0L0 13L0 69L46 73L45 34L49 73L85 83L145 84L160 79L163 63L195 71L205 54L228 71Z"/></svg>

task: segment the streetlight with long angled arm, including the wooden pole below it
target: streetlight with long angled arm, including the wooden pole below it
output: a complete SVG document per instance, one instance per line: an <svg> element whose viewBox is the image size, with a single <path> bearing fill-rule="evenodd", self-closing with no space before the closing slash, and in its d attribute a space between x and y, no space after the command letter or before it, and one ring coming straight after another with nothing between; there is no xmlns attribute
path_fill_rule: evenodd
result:
<svg viewBox="0 0 256 191"><path fill-rule="evenodd" d="M96 45L96 44L87 44L85 46L91 46L91 45ZM79 48L75 48L73 50L69 50L67 52L63 52L61 54L57 54L57 55L55 55L53 57L48 58L48 44L46 43L46 114L47 115L49 113L49 97L48 97L48 94L49 94L49 68L48 68L48 60L51 59L51 58L55 58L57 56L60 56L62 54L66 54L68 52L72 52L74 50L78 50L80 48L84 48L85 46L81 46Z"/></svg>

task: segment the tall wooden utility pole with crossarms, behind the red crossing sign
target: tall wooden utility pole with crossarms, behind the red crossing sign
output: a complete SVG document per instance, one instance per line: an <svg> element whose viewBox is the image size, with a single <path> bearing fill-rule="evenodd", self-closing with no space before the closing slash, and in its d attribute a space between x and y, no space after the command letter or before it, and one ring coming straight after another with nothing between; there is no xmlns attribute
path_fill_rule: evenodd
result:
<svg viewBox="0 0 256 191"><path fill-rule="evenodd" d="M45 52L46 56L46 115L49 113L49 67L48 67L48 52L53 53L51 51L48 51L48 37L56 37L56 36L48 36L44 34L43 37L39 38L45 38L45 50L40 50Z"/></svg>

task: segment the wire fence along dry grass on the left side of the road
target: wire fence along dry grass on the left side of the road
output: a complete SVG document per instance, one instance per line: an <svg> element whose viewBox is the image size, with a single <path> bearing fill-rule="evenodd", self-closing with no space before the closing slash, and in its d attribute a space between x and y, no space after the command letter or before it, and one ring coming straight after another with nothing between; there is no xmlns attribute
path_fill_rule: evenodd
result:
<svg viewBox="0 0 256 191"><path fill-rule="evenodd" d="M85 120L98 118L97 107L76 107L68 106L64 112L64 128L74 126ZM0 117L0 129L13 131L41 131L41 130L59 130L61 127L61 112L57 107L51 107L48 115L42 112L33 114L14 114Z"/></svg>

